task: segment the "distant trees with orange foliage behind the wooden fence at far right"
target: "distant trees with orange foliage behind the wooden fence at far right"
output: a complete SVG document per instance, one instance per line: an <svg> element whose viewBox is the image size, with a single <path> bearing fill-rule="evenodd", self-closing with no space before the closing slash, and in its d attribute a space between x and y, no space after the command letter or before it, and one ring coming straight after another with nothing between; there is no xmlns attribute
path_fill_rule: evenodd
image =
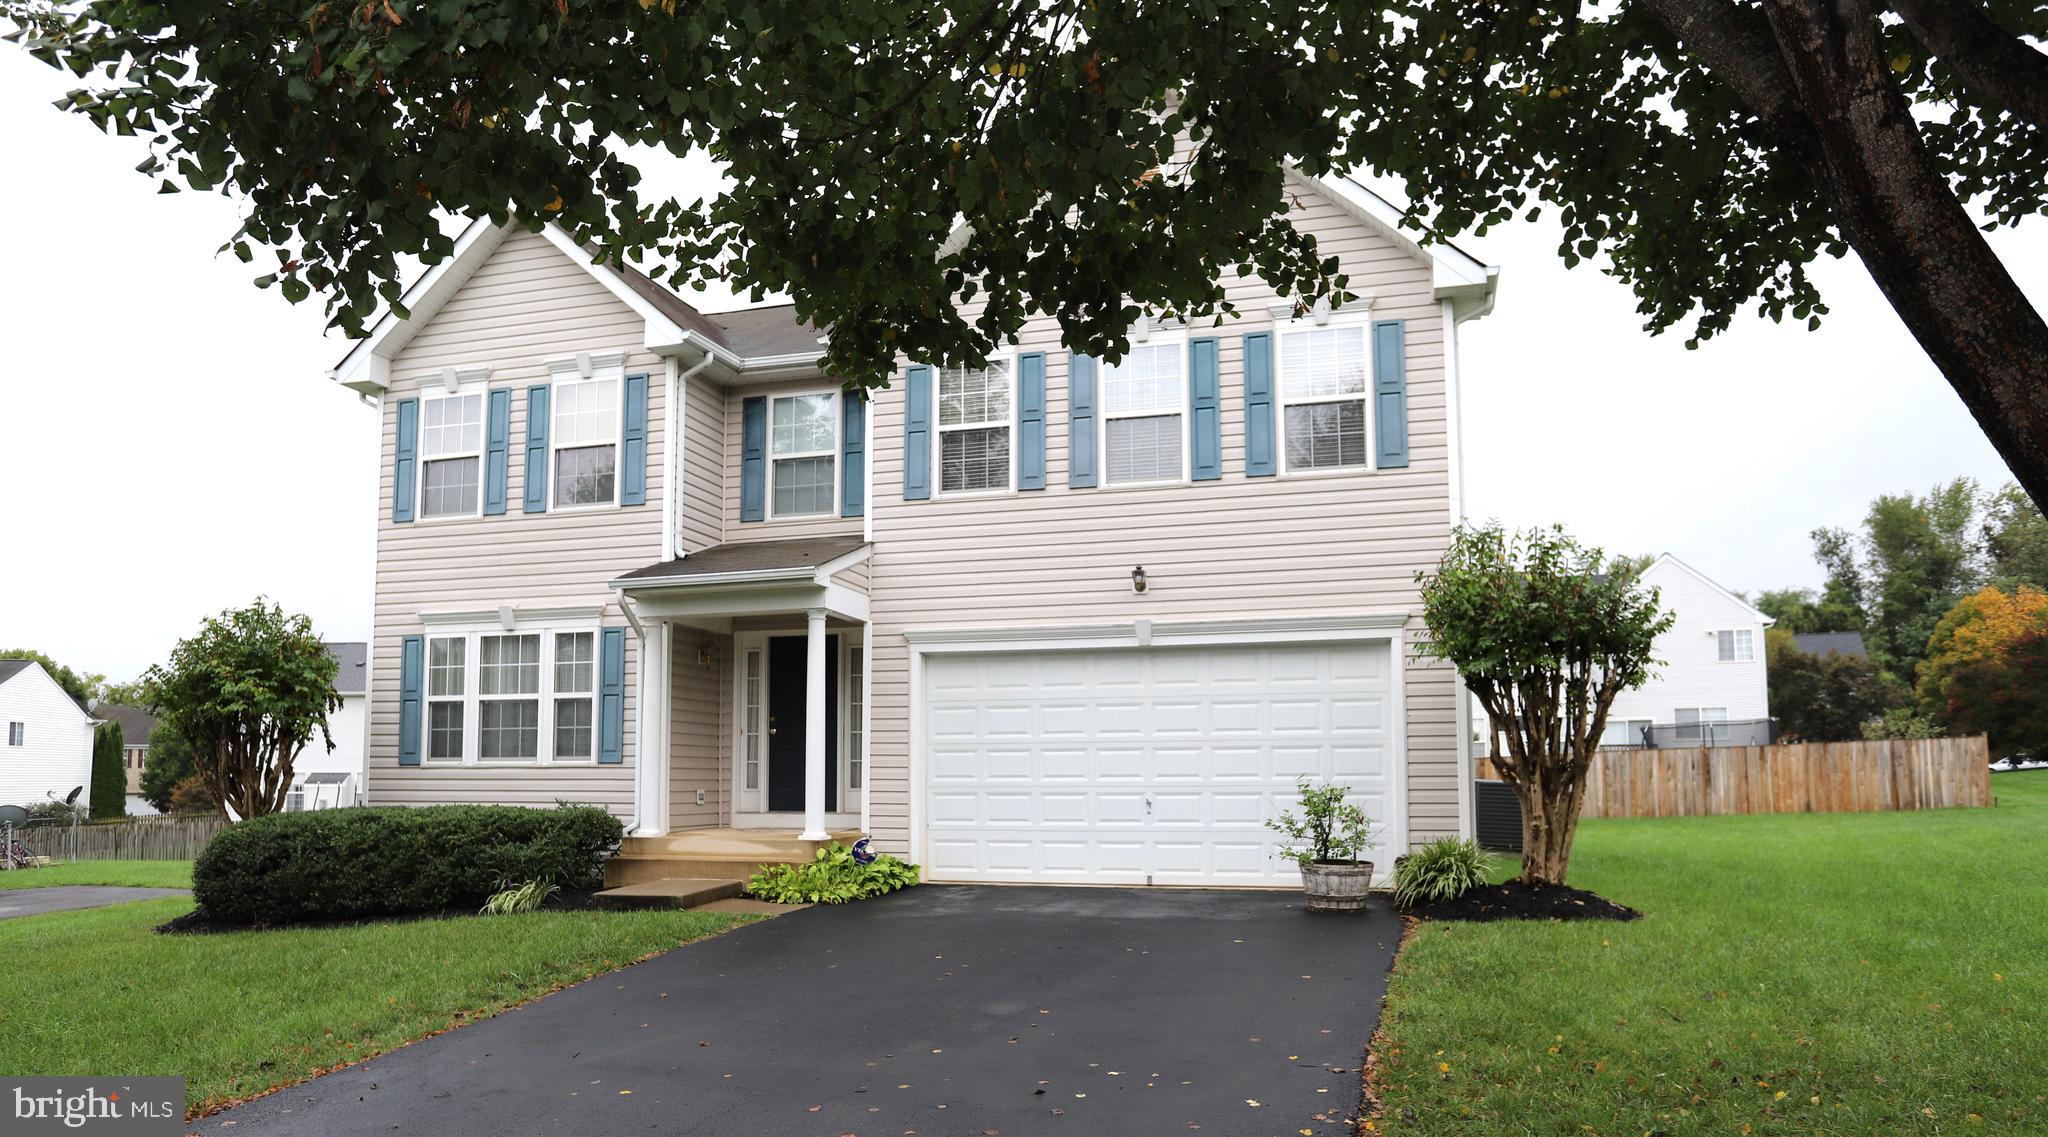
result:
<svg viewBox="0 0 2048 1137"><path fill-rule="evenodd" d="M1858 529L1815 529L1819 590L1755 598L1772 715L1788 738L1987 733L1995 756L2048 748L2048 518L1968 477L1884 494ZM1853 631L1868 658L1802 651Z"/></svg>

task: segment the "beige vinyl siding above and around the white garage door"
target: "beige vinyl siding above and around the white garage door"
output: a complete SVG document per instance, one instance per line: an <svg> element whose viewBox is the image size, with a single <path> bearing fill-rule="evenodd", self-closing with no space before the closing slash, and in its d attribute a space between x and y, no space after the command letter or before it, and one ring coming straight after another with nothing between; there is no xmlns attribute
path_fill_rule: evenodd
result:
<svg viewBox="0 0 2048 1137"><path fill-rule="evenodd" d="M1417 610L1415 572L1436 563L1452 527L1442 303L1425 262L1319 193L1300 195L1296 223L1372 295L1372 320L1405 320L1405 469L1245 477L1243 336L1274 330L1278 299L1257 281L1227 281L1241 320L1188 328L1219 340L1219 481L1069 490L1067 352L1044 318L1018 350L1047 352L1047 490L905 502L901 379L877 397L868 787L885 848L911 840L905 629ZM1143 596L1130 592L1135 565L1151 582ZM1417 629L1409 619L1407 637ZM1411 654L1403 668L1407 824L1419 842L1458 830L1456 680Z"/></svg>

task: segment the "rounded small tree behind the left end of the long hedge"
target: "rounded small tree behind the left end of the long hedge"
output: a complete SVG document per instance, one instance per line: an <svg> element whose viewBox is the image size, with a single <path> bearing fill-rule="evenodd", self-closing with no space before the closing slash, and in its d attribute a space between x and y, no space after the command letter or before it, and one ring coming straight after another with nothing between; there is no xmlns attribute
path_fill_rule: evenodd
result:
<svg viewBox="0 0 2048 1137"><path fill-rule="evenodd" d="M258 598L209 617L141 682L158 729L190 746L215 809L260 817L285 809L293 760L315 733L334 750L328 715L342 705L334 672L311 619Z"/></svg>

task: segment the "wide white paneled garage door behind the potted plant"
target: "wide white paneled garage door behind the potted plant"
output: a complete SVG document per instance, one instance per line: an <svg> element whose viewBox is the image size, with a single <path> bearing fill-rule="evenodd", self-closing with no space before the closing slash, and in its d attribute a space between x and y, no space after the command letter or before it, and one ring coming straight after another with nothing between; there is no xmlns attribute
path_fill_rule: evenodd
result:
<svg viewBox="0 0 2048 1137"><path fill-rule="evenodd" d="M1337 778L1399 832L1386 643L932 654L936 881L1288 885L1266 819Z"/></svg>

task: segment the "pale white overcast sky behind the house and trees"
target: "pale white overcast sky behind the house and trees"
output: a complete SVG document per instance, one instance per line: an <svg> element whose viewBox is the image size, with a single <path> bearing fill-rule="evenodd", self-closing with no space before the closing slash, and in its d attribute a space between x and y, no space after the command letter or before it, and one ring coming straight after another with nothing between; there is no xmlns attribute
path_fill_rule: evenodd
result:
<svg viewBox="0 0 2048 1137"><path fill-rule="evenodd" d="M377 438L326 377L344 342L317 301L254 289L268 266L215 252L229 201L158 195L137 139L51 109L68 86L0 49L0 647L127 680L256 594L367 637ZM711 170L651 180L694 199ZM2048 305L2048 225L1993 244ZM1815 270L1819 332L1743 318L1688 352L1622 285L1567 272L1548 225L1460 246L1501 266L1460 340L1473 516L1755 592L1819 584L1806 533L1876 494L2011 477L1855 260Z"/></svg>

